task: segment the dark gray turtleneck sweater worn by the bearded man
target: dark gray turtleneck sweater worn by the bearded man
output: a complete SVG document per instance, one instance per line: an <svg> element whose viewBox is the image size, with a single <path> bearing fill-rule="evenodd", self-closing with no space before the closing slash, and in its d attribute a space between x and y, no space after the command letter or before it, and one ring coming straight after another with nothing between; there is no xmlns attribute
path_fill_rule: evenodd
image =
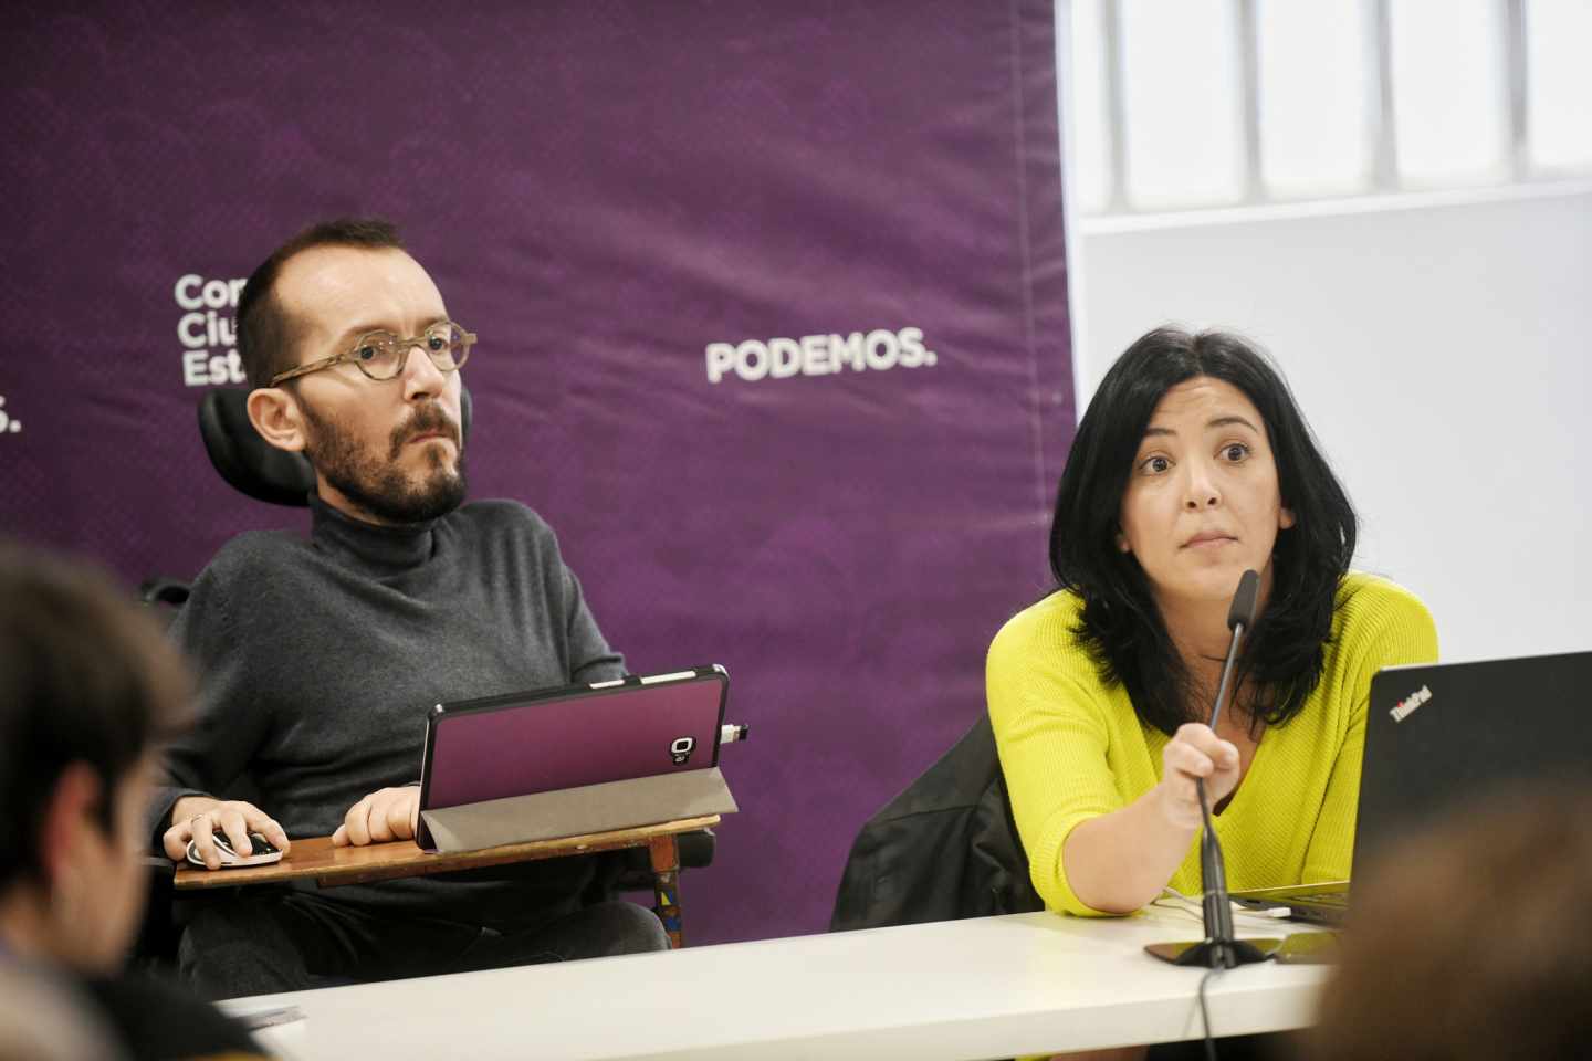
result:
<svg viewBox="0 0 1592 1061"><path fill-rule="evenodd" d="M240 775L288 838L325 837L363 797L419 779L433 705L622 673L525 506L478 501L400 528L315 496L310 509L309 539L228 542L172 625L201 676L199 724L167 757L156 846L177 799L226 795ZM517 927L572 910L591 876L591 859L572 857L320 894Z"/></svg>

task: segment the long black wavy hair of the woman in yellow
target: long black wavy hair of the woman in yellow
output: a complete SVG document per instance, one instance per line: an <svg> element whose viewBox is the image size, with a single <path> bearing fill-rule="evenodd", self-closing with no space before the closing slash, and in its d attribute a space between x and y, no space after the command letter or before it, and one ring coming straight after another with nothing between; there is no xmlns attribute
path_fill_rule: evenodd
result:
<svg viewBox="0 0 1592 1061"><path fill-rule="evenodd" d="M1055 492L1051 573L1083 598L1075 635L1106 684L1121 682L1146 725L1172 735L1204 721L1196 689L1162 622L1149 581L1118 549L1122 493L1149 417L1162 396L1196 377L1237 387L1259 410L1277 460L1283 506L1296 522L1277 536L1272 592L1243 641L1234 689L1264 697L1253 717L1282 725L1321 681L1337 585L1355 555L1356 517L1317 447L1282 374L1256 347L1223 331L1157 328L1106 372L1078 425Z"/></svg>

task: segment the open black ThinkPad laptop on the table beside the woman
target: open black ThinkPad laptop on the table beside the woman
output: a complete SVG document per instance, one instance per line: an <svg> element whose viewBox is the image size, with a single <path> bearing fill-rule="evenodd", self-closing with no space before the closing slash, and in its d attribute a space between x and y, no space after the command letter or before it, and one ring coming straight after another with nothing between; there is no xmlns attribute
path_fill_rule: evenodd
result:
<svg viewBox="0 0 1592 1061"><path fill-rule="evenodd" d="M1519 781L1592 781L1592 652L1388 667L1371 679L1355 821L1369 865L1444 811ZM1348 881L1232 892L1245 907L1340 924Z"/></svg>

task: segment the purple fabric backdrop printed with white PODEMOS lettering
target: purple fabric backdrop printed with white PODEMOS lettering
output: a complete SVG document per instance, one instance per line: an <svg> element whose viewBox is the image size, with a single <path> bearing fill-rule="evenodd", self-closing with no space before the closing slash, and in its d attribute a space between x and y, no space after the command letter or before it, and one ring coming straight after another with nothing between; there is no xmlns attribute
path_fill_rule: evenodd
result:
<svg viewBox="0 0 1592 1061"><path fill-rule="evenodd" d="M688 934L823 929L1046 584L1051 0L54 6L8 16L3 525L129 581L304 527L194 404L229 282L392 216L481 334L473 495L551 520L634 670L729 668L742 814Z"/></svg>

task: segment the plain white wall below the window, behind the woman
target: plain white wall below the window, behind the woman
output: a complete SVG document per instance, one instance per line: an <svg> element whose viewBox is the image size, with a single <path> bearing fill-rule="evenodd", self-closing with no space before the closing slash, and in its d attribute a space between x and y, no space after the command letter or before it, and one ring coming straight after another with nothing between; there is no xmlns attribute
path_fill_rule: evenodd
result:
<svg viewBox="0 0 1592 1061"><path fill-rule="evenodd" d="M1242 331L1444 660L1592 649L1592 185L1079 227L1079 407L1156 325Z"/></svg>

